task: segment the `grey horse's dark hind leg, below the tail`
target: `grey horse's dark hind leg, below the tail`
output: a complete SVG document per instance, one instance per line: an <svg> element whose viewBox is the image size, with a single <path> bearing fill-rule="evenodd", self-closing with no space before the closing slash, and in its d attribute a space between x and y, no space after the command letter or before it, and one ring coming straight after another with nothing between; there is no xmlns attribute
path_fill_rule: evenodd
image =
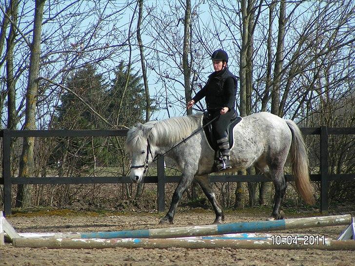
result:
<svg viewBox="0 0 355 266"><path fill-rule="evenodd" d="M283 200L283 196L285 195L286 191L286 180L285 180L285 175L283 172L283 167L275 167L270 169L270 176L274 182L275 185L275 203L274 203L274 209L272 212L272 216L269 218L269 220L279 220L284 218L284 213L281 210L280 211L280 206L281 202Z"/></svg>

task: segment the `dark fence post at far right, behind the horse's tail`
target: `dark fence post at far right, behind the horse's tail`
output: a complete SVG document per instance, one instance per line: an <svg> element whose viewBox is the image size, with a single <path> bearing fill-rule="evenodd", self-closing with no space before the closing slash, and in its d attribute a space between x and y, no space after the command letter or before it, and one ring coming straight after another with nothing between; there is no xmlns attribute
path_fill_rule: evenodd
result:
<svg viewBox="0 0 355 266"><path fill-rule="evenodd" d="M320 211L328 214L328 128L320 127Z"/></svg>

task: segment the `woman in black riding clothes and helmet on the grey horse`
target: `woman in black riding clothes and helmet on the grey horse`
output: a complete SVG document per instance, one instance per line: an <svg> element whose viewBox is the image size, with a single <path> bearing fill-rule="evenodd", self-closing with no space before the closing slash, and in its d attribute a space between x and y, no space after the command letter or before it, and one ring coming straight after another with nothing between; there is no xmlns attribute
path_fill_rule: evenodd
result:
<svg viewBox="0 0 355 266"><path fill-rule="evenodd" d="M235 103L237 94L237 76L233 75L227 67L228 55L219 49L212 54L212 64L215 72L208 76L206 85L188 102L190 109L200 99L205 97L207 111L211 118L217 118L213 126L213 134L221 157L217 164L218 170L230 168L229 141L226 134L228 123L235 114Z"/></svg>

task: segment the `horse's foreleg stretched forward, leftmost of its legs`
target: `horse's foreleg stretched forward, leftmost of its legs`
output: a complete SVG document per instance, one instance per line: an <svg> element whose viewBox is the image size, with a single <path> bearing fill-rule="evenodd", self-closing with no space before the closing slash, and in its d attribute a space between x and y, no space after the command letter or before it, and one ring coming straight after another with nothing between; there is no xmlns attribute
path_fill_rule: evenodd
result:
<svg viewBox="0 0 355 266"><path fill-rule="evenodd" d="M181 200L182 195L187 190L188 186L191 185L192 180L194 179L194 174L189 171L184 171L181 175L180 182L178 187L174 191L173 198L171 201L170 209L159 222L159 224L173 224L174 214L178 207L178 203Z"/></svg>

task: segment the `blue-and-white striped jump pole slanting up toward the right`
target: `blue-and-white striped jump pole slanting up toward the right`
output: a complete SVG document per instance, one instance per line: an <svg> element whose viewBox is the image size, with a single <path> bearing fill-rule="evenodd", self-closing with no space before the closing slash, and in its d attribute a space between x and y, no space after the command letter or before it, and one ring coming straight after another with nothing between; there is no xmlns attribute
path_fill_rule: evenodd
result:
<svg viewBox="0 0 355 266"><path fill-rule="evenodd" d="M336 225L349 225L351 215L334 215L308 218L295 218L276 221L257 221L245 223L232 223L220 225L177 227L177 228L156 228L140 230L123 230L112 232L91 232L58 234L52 238L174 238L189 236L207 236L230 233L265 232L284 229L314 228Z"/></svg>

